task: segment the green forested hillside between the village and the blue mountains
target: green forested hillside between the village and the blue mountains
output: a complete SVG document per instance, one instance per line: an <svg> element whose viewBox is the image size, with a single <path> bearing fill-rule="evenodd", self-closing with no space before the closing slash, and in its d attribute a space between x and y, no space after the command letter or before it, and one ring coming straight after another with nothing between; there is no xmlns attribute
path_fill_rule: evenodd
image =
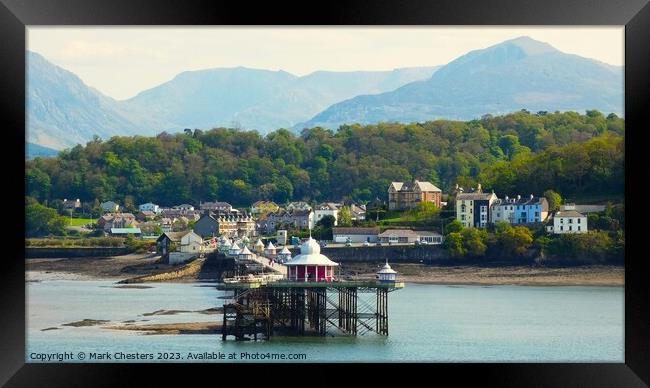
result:
<svg viewBox="0 0 650 388"><path fill-rule="evenodd" d="M598 111L486 115L479 120L278 130L216 128L96 139L26 162L27 194L163 206L219 199L385 199L395 180L443 192L480 182L506 194L622 194L624 120Z"/></svg>

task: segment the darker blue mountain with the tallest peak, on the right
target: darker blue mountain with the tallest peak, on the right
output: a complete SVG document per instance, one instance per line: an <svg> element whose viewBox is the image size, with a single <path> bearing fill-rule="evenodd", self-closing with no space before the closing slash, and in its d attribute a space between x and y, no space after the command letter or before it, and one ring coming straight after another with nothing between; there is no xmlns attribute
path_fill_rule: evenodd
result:
<svg viewBox="0 0 650 388"><path fill-rule="evenodd" d="M429 79L394 91L357 96L296 126L471 120L484 114L598 109L623 112L623 68L520 37L471 51Z"/></svg>

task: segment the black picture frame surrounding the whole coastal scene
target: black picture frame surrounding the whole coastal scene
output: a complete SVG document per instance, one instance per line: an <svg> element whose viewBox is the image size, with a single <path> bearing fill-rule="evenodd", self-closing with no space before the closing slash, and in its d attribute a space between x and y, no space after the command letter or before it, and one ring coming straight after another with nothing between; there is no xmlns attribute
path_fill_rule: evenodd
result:
<svg viewBox="0 0 650 388"><path fill-rule="evenodd" d="M0 270L0 383L8 386L132 385L138 378L168 373L170 365L25 364L24 200L25 26L27 25L625 25L626 197L641 204L644 116L650 112L650 6L648 0L411 0L278 4L275 2L216 2L205 0L0 0L0 121L5 145L3 195L16 214L6 224L6 254ZM646 125L647 126L647 125ZM15 166L15 167L14 167ZM635 179L637 178L637 179ZM22 182L22 183L21 183ZM637 215L639 214L639 215ZM650 382L650 320L645 257L638 252L646 226L635 225L639 213L628 212L625 260L625 363L620 364L426 364L437 382L478 379L499 386L646 386ZM630 223L632 221L632 223ZM399 361L399 360L395 360ZM188 365L219 384L224 366L246 375L251 365ZM295 365L278 365L279 375ZM354 372L367 382L389 374L403 377L410 370L367 367ZM400 364L401 367L409 367ZM173 368L177 366L174 365ZM300 369L304 370L301 366ZM199 369L201 368L201 369ZM313 368L313 366L312 366ZM320 369L322 367L316 367ZM327 367L329 370L329 366ZM308 370L308 369L307 369ZM322 370L322 369L321 369ZM350 370L352 371L352 370ZM187 373L187 371L185 371ZM304 381L304 379L301 379ZM402 378L411 382L411 377ZM147 380L149 381L149 380ZM263 382L263 381L260 381ZM413 380L413 383L415 380Z"/></svg>

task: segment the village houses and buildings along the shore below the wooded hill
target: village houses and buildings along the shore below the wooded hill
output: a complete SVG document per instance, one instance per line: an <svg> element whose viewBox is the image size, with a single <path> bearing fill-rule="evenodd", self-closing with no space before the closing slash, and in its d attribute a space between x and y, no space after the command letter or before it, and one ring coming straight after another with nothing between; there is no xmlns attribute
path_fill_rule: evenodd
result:
<svg viewBox="0 0 650 388"><path fill-rule="evenodd" d="M436 211L453 213L463 228L485 229L498 223L544 228L546 233L588 233L588 213L602 212L604 205L565 204L556 211L549 209L549 201L542 196L505 195L499 198L494 191L476 188L464 189L456 185L450 194L433 183L414 180L391 182L387 201L374 203L304 201L283 205L273 201L257 201L247 208L235 208L220 201L178 204L163 207L143 203L137 211L129 211L114 201L99 204L101 217L77 229L92 231L95 235L126 237L156 241L157 253L168 264L181 264L202 254L226 247L267 252L278 262L290 257L288 248L298 246L311 231L331 230L321 235L320 243L329 247L374 247L386 245L443 244L445 220L440 225L421 225L418 222L381 222L385 213L408 214L423 206ZM445 199L445 201L443 201ZM450 201L451 200L451 201ZM70 215L82 208L77 199L64 199L62 207ZM277 255L275 250L277 249ZM234 252L239 254L239 252Z"/></svg>

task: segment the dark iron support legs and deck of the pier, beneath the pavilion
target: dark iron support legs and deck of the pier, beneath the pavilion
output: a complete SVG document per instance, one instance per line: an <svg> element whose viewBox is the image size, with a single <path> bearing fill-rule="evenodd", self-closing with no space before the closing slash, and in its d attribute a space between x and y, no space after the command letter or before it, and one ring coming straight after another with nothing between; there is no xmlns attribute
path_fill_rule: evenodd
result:
<svg viewBox="0 0 650 388"><path fill-rule="evenodd" d="M268 281L224 283L222 339L281 335L388 335L388 293L404 284Z"/></svg>

